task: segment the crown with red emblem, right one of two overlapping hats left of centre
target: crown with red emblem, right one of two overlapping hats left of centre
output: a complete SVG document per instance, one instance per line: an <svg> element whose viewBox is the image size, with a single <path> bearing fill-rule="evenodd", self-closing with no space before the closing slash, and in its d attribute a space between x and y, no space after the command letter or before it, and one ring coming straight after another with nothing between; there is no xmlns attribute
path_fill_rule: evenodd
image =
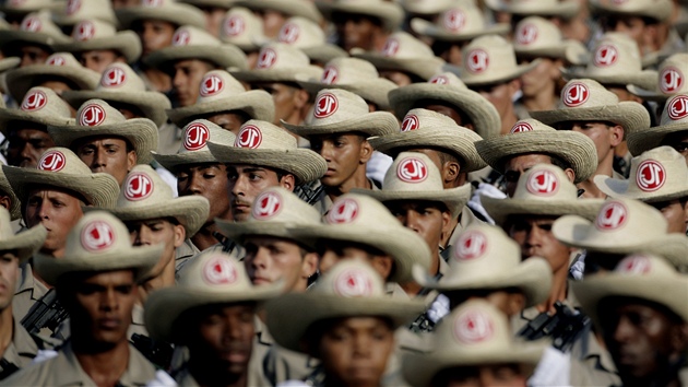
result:
<svg viewBox="0 0 688 387"><path fill-rule="evenodd" d="M295 150L297 143L296 139L286 130L271 122L250 119L239 129L234 146L259 150Z"/></svg>

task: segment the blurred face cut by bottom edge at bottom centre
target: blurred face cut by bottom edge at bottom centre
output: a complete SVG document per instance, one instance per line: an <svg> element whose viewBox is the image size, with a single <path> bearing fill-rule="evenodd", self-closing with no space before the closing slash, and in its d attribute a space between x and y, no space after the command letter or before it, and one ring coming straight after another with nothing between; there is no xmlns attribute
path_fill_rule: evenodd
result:
<svg viewBox="0 0 688 387"><path fill-rule="evenodd" d="M394 348L394 331L379 317L334 322L320 340L328 379L344 386L378 386Z"/></svg>

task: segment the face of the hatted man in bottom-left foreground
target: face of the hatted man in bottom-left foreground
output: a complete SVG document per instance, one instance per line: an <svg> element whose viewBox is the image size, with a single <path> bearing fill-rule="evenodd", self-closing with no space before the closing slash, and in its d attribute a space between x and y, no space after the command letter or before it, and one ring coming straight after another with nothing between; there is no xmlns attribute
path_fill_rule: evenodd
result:
<svg viewBox="0 0 688 387"><path fill-rule="evenodd" d="M69 305L72 335L100 344L127 341L138 289L132 270L97 273L75 283Z"/></svg>

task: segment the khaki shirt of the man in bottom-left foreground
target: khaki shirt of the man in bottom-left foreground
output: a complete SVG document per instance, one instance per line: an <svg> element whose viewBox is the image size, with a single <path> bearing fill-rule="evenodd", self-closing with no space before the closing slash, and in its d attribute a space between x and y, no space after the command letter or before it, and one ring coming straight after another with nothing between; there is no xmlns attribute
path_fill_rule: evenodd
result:
<svg viewBox="0 0 688 387"><path fill-rule="evenodd" d="M120 376L120 386L145 386L155 378L155 368L129 345L129 365ZM0 383L0 386L95 386L84 372L72 351L71 343L64 344L58 355L34 364Z"/></svg>

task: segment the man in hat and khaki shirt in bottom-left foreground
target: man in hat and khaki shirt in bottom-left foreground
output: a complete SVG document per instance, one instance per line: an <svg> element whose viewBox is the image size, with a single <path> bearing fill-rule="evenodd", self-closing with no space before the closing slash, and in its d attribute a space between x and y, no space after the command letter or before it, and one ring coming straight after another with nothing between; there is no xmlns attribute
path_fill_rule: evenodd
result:
<svg viewBox="0 0 688 387"><path fill-rule="evenodd" d="M71 316L70 341L57 356L4 383L144 385L155 377L155 368L129 343L127 329L137 283L159 260L163 246L131 247L127 227L99 211L84 215L68 239L64 257L38 254L34 262Z"/></svg>

